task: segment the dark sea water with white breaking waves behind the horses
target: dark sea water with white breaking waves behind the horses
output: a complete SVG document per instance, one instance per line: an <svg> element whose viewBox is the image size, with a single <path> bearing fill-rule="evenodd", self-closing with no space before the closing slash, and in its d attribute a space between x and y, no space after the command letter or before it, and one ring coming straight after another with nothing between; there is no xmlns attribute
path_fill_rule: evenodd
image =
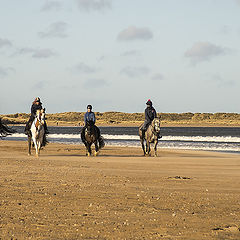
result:
<svg viewBox="0 0 240 240"><path fill-rule="evenodd" d="M5 140L26 141L24 126ZM48 127L48 141L79 144L81 127ZM108 146L141 147L137 127L100 127ZM240 153L239 127L162 127L158 148L210 150Z"/></svg>

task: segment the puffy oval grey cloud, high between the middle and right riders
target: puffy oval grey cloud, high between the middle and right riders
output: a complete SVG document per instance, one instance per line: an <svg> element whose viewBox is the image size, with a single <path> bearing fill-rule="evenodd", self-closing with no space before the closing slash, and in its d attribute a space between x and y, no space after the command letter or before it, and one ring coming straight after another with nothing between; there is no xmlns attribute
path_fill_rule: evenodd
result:
<svg viewBox="0 0 240 240"><path fill-rule="evenodd" d="M130 26L118 34L119 41L132 41L132 40L150 40L153 38L153 33L148 28L137 28Z"/></svg>

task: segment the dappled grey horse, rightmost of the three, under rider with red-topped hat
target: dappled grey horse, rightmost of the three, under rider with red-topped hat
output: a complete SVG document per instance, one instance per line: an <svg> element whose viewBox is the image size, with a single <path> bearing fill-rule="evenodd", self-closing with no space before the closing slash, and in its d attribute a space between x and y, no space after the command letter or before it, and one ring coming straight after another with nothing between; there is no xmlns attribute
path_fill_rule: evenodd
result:
<svg viewBox="0 0 240 240"><path fill-rule="evenodd" d="M157 144L158 144L158 138L161 138L159 136L160 134L160 119L159 118L154 118L152 123L149 125L147 131L145 132L145 137L142 136L142 126L143 124L139 127L139 136L140 136L140 141L142 144L142 149L144 156L150 155L150 143L154 143L154 156L157 156ZM144 141L146 141L146 149L144 145Z"/></svg>

